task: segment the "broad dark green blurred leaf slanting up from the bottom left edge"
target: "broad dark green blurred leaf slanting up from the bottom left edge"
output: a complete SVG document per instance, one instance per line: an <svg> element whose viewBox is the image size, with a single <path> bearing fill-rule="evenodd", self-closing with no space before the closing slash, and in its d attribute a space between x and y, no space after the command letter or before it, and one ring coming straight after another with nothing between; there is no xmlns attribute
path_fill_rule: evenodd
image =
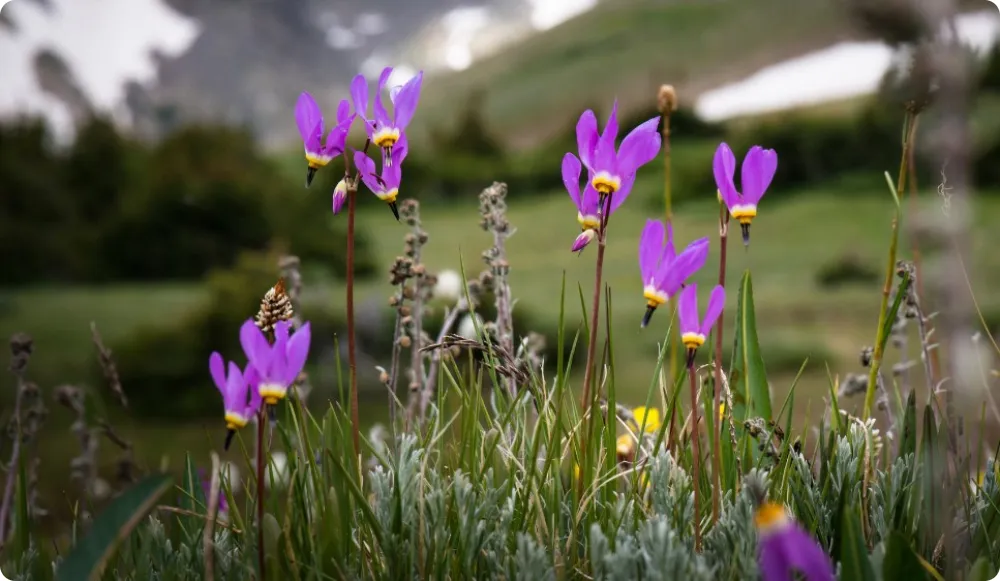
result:
<svg viewBox="0 0 1000 581"><path fill-rule="evenodd" d="M116 498L97 519L90 532L59 565L57 581L82 581L100 577L118 545L153 509L173 484L167 474L148 476Z"/></svg>

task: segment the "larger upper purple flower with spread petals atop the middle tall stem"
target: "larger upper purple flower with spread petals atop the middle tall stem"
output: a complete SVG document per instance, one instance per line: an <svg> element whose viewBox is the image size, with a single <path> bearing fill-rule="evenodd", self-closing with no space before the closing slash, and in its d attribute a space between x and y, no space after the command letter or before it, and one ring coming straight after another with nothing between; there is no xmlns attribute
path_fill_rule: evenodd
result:
<svg viewBox="0 0 1000 581"><path fill-rule="evenodd" d="M593 111L588 109L580 115L576 124L580 160L590 173L590 184L598 191L602 201L605 196L618 192L624 198L628 194L624 189L625 183L635 179L639 167L656 157L660 151L659 122L660 118L654 117L636 127L615 151L618 102L615 101L603 133L597 131L597 116Z"/></svg>

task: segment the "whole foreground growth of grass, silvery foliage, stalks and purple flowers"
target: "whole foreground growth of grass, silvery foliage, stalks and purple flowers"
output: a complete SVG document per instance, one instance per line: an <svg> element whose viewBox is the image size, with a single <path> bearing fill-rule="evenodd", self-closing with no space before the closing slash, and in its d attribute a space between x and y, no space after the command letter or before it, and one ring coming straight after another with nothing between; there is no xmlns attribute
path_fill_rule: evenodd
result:
<svg viewBox="0 0 1000 581"><path fill-rule="evenodd" d="M13 438L5 449L0 502L6 575L763 581L985 581L995 575L1000 467L995 454L984 452L993 449L985 436L974 444L961 438L969 423L942 389L948 372L932 363L940 347L919 291L922 274L898 244L924 105L910 102L905 109L902 163L898 179L887 183L895 211L887 217L884 286L871 297L880 309L874 343L863 350L866 373L843 381L831 375L821 411L803 421L794 413L794 382L786 397L774 398L758 338L768 322L757 319L753 282L769 273L746 269L729 278L726 260L730 223L740 225L747 254L754 252L751 224L768 227L758 205L781 152L754 146L738 164L721 143L714 158L704 160L717 192L705 192L700 203L719 204L717 248L706 236L675 249L668 181L667 220L646 222L636 265L646 305L636 322L658 356L648 362L645 398L620 402L611 329L622 299L603 279L604 250L616 243L609 226L615 210L666 142L672 105L661 104L662 128L656 117L627 128L620 142L617 108L602 131L592 111L580 117L578 151L563 158L562 177L581 226L568 246L583 252L596 243L594 284L587 296L565 274L553 278L557 348L546 358L543 340L513 324L517 289L510 272L517 265L507 241L517 225L507 217L502 183L479 198L482 268L463 265L461 296L440 326L431 325L435 277L422 262L431 233L415 200L397 204L409 147L405 129L422 76L390 91L390 115L381 100L390 73L379 79L371 118L367 81L355 79L325 139L312 97L303 95L296 115L307 184L344 156L332 209L338 214L347 205L348 252L360 184L402 223L403 254L383 265L395 316L391 356L379 367L388 426L362 429L359 421L350 256L348 374L343 377L338 358L339 397L306 405L311 328L297 312L298 261L285 257L282 278L261 289L260 310L233 329L245 361L227 364L206 354L223 400L223 447L233 445L249 476L239 477L213 452L207 459L188 455L177 474L131 466L127 482L97 494L87 459L102 435L115 441L114 431L100 419L91 427L96 394L61 387L58 397L78 412L73 430L84 453L73 464L81 486L72 527L53 539L37 527L42 508L32 478L44 390L30 383L34 345L17 335L9 366L17 388ZM366 145L348 152L357 117ZM371 147L381 156L378 170L367 154ZM909 185L913 195L916 187ZM388 214L386 223L396 224ZM718 283L699 293L690 278L711 252L719 253ZM663 305L671 312L654 319ZM574 326L569 321L577 314L582 323ZM733 349L723 369L727 317ZM899 373L884 372L886 346L901 344L896 339L906 336L908 321L917 323L925 390L912 381L908 370L915 365L905 356ZM113 355L96 335L95 341L111 392L127 406L131 386L120 385ZM712 357L699 365L697 351L706 344ZM572 366L577 350L586 353L582 370ZM863 411L855 416L846 400L862 394ZM119 445L131 452L127 442Z"/></svg>

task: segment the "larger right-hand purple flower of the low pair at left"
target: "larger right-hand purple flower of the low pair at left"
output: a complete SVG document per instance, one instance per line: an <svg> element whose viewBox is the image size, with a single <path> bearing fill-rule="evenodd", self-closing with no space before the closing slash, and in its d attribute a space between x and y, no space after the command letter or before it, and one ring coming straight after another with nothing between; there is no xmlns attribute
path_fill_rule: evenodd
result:
<svg viewBox="0 0 1000 581"><path fill-rule="evenodd" d="M257 391L267 405L275 405L285 397L309 354L309 323L302 325L291 338L288 328L288 321L278 321L274 325L273 345L268 343L253 319L248 319L240 329L240 344L259 374Z"/></svg>

